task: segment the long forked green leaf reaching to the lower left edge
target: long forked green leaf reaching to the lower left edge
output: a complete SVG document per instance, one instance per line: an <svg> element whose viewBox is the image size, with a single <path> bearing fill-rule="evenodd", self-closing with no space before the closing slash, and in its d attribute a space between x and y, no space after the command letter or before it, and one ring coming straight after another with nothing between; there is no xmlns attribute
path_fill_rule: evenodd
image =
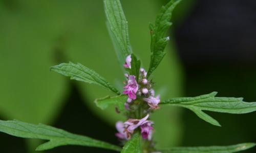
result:
<svg viewBox="0 0 256 153"><path fill-rule="evenodd" d="M110 143L92 139L86 136L80 136L66 132L65 130L44 124L30 124L20 121L2 121L0 120L0 132L21 137L49 140L39 145L36 150L47 150L62 145L81 145L89 147L99 147L120 151L121 148Z"/></svg>

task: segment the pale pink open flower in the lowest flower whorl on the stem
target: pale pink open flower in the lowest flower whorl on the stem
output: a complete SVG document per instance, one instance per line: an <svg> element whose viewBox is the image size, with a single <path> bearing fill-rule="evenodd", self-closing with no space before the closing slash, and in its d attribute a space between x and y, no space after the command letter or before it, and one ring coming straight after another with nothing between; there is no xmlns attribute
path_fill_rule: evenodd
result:
<svg viewBox="0 0 256 153"><path fill-rule="evenodd" d="M124 132L126 133L126 138L127 139L130 139L131 138L131 134L133 134L134 130L143 125L143 133L145 135L145 130L147 130L146 126L144 127L144 124L147 124L147 123L150 123L151 125L151 121L147 121L147 118L149 117L150 115L147 114L144 118L142 119L129 119L127 120L126 122L124 122ZM147 131L146 131L147 132ZM147 135L148 136L148 135Z"/></svg>

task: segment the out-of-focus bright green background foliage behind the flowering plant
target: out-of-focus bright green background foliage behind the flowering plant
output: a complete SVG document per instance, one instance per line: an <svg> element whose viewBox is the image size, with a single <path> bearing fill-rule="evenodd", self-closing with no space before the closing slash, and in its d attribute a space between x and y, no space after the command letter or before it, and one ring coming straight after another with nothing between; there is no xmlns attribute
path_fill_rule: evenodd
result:
<svg viewBox="0 0 256 153"><path fill-rule="evenodd" d="M131 0L122 1L122 5L134 53L147 69L148 23L154 21L162 4ZM182 9L178 6L176 10ZM174 12L176 15L179 16ZM66 78L49 71L61 61L80 62L122 90L124 77L105 20L102 1L0 1L0 114L5 119L53 123L69 91ZM153 74L162 99L182 94L182 69L174 41L167 50ZM114 108L101 111L93 103L110 92L91 84L78 85L85 101L89 101L86 104L103 121L114 125L117 120L124 120ZM159 146L179 143L182 126L178 109L161 109L153 120Z"/></svg>

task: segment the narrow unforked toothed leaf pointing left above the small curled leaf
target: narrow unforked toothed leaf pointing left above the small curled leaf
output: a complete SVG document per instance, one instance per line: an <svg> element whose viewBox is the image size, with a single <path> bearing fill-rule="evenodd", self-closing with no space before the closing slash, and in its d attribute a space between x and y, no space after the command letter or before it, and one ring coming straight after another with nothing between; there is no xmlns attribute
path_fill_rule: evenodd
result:
<svg viewBox="0 0 256 153"><path fill-rule="evenodd" d="M100 86L103 86L105 89L112 91L113 93L120 95L118 90L112 86L108 81L106 81L103 77L101 77L95 71L85 67L80 63L61 63L59 65L55 65L51 67L50 70L53 70L62 75L68 76L71 79L77 81L83 81L87 83L94 83Z"/></svg>

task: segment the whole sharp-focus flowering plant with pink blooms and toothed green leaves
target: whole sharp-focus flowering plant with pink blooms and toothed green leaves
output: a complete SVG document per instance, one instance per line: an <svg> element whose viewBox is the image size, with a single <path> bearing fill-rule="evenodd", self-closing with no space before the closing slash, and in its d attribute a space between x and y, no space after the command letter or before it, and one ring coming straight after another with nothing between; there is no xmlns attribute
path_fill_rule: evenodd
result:
<svg viewBox="0 0 256 153"><path fill-rule="evenodd" d="M172 11L179 2L180 0L171 0L163 6L157 15L155 23L150 25L151 62L148 72L146 72L141 67L140 60L132 53L127 21L120 1L104 0L108 29L115 45L120 65L125 70L122 94L98 73L80 63L61 63L51 67L52 71L77 81L99 85L115 94L113 97L98 98L95 103L102 110L115 105L115 111L127 117L126 121L118 121L116 123L117 133L115 135L124 144L123 148L86 136L71 134L51 126L35 125L16 120L0 120L0 132L22 138L49 140L38 146L36 150L46 150L62 145L81 145L111 149L121 151L121 153L231 153L255 146L255 143L242 143L209 147L170 147L165 149L155 147L154 133L157 131L150 117L152 113L160 109L160 106L170 105L188 108L199 118L216 126L221 125L203 111L230 114L244 114L256 111L256 102L244 102L243 98L216 97L217 92L197 97L170 98L167 100L161 100L160 95L155 94L155 82L152 81L151 74L165 56L164 49L169 40L165 33L169 26L172 25L169 20L172 16Z"/></svg>

